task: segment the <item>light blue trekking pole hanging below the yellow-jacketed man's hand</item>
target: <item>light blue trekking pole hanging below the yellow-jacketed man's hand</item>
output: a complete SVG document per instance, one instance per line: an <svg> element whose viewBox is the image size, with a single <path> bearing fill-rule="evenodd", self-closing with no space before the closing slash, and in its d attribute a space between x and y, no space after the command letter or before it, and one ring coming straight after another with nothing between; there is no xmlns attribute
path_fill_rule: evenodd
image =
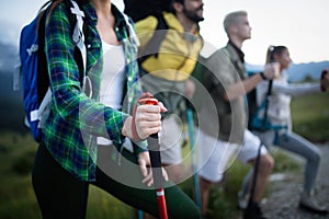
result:
<svg viewBox="0 0 329 219"><path fill-rule="evenodd" d="M195 166L195 151L194 151L194 129L193 129L193 112L192 108L188 105L188 125L189 125L189 136L190 136L190 147L192 153L192 169L193 169L193 182L194 182L194 195L195 195L195 203L201 208L201 193L200 193L200 183L198 176L196 174L196 166Z"/></svg>

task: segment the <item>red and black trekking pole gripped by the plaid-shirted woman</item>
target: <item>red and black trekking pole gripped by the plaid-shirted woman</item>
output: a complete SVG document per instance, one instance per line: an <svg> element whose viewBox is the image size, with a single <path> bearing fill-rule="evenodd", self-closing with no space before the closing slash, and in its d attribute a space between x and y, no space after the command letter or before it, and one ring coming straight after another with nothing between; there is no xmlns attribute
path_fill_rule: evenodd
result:
<svg viewBox="0 0 329 219"><path fill-rule="evenodd" d="M158 102L156 99L149 97L139 100L139 103L147 105L156 105ZM154 175L154 183L157 192L159 216L160 219L168 219L158 134L150 135L147 141L149 146L149 157Z"/></svg>

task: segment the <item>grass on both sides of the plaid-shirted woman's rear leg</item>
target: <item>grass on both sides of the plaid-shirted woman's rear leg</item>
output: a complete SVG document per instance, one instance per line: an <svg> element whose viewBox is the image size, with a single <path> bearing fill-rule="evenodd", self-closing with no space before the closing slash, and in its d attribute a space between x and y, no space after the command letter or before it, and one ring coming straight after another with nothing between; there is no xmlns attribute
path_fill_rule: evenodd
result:
<svg viewBox="0 0 329 219"><path fill-rule="evenodd" d="M0 139L0 218L42 218L31 182L37 145L30 135L7 132ZM87 218L132 218L132 207L94 186L89 193Z"/></svg>

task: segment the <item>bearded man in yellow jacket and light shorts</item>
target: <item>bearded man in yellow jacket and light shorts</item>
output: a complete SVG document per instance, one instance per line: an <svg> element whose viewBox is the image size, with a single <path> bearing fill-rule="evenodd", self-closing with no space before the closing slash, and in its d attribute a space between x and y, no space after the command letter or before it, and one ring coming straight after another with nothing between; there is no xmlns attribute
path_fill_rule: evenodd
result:
<svg viewBox="0 0 329 219"><path fill-rule="evenodd" d="M183 97L191 99L195 90L189 78L203 47L198 31L198 22L204 20L203 1L173 0L170 8L172 12L163 11L136 22L136 32L140 41L144 90L168 108L160 132L162 165L169 178L179 183L186 172L182 164L182 128L177 115L180 102ZM158 35L158 42L154 35Z"/></svg>

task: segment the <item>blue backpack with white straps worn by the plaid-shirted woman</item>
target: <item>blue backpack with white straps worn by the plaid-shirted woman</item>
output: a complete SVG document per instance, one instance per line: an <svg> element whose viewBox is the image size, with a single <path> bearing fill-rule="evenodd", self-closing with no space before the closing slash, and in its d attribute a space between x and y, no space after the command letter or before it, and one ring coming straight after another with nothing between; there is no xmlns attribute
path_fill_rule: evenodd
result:
<svg viewBox="0 0 329 219"><path fill-rule="evenodd" d="M80 56L76 59L80 76L80 81L86 79L87 50L84 46L84 13L73 0L65 0L68 10L68 16L72 30L72 41ZM34 139L39 142L42 136L43 122L45 120L52 100L52 90L49 87L49 76L45 46L45 22L50 1L46 2L38 11L36 18L21 31L20 38L20 74L22 76L23 100L25 110L25 125L30 127ZM86 28L87 30L87 28ZM84 31L86 32L86 31ZM18 72L18 71L15 71ZM14 77L15 80L20 77ZM14 81L14 84L18 84ZM82 82L81 82L82 85ZM14 85L14 89L16 85ZM18 89L15 89L18 90Z"/></svg>

